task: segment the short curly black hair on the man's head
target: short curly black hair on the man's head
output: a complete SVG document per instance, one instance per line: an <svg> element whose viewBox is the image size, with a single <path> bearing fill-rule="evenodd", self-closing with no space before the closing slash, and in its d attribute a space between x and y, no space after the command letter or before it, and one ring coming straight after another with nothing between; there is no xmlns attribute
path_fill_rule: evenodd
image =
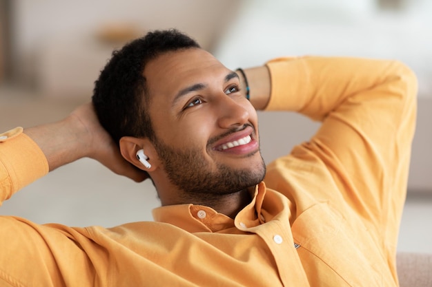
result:
<svg viewBox="0 0 432 287"><path fill-rule="evenodd" d="M92 103L102 127L119 145L122 136L155 140L148 105L144 67L166 52L200 48L178 30L156 30L112 52L95 81Z"/></svg>

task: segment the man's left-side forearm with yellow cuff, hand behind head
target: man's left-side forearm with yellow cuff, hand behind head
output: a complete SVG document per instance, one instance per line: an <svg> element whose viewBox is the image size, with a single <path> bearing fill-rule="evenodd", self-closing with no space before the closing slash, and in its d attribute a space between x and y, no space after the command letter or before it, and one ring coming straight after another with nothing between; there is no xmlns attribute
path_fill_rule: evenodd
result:
<svg viewBox="0 0 432 287"><path fill-rule="evenodd" d="M121 156L90 103L57 123L21 131L14 129L0 140L0 203L48 171L84 157L137 182L146 179L146 173Z"/></svg>

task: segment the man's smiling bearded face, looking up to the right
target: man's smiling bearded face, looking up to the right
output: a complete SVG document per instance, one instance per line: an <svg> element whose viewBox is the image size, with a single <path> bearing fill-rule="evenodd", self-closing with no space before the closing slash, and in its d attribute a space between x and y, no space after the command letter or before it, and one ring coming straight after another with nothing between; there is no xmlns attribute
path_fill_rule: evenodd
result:
<svg viewBox="0 0 432 287"><path fill-rule="evenodd" d="M228 194L264 178L257 113L237 74L201 49L168 52L144 70L155 149L168 180L192 194Z"/></svg>

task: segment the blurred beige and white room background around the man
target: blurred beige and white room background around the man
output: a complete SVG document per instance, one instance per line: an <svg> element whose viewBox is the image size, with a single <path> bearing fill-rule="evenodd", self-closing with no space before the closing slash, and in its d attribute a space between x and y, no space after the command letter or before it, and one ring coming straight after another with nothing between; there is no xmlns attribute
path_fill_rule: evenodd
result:
<svg viewBox="0 0 432 287"><path fill-rule="evenodd" d="M231 69L305 54L398 59L420 88L400 250L432 252L431 14L429 0L0 0L0 130L57 120L88 101L112 50L147 30L183 30ZM259 118L266 162L318 125L289 113ZM112 226L151 220L158 205L148 182L84 159L26 187L0 214Z"/></svg>

